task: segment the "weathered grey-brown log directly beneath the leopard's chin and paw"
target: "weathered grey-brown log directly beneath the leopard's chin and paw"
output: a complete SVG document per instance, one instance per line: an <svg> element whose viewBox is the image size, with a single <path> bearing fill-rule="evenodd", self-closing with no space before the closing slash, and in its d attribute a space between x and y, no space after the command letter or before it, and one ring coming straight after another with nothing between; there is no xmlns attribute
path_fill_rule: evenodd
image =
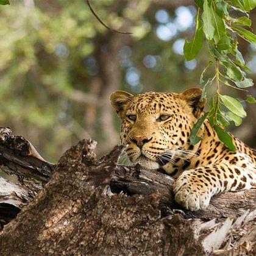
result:
<svg viewBox="0 0 256 256"><path fill-rule="evenodd" d="M145 169L142 166L117 166L110 187L114 191L125 191L127 194L149 195L158 192L162 203L164 215L170 213L170 209L180 209L174 201L172 185L175 180L166 174ZM213 197L210 205L197 212L183 210L187 218L227 218L228 216L240 216L246 210L256 210L256 190L243 190L226 192ZM167 212L165 213L165 211Z"/></svg>

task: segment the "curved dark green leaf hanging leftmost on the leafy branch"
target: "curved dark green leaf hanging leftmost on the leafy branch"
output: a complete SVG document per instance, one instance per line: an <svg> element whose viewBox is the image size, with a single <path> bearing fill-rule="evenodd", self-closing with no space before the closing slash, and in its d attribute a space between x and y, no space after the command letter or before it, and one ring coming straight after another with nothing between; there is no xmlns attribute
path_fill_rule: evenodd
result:
<svg viewBox="0 0 256 256"><path fill-rule="evenodd" d="M186 39L183 47L183 52L186 60L193 60L196 57L196 55L202 48L203 41L204 32L202 30L202 21L199 20L199 16L197 15L196 32L194 34L194 38L193 40L191 40L191 42L188 42Z"/></svg>

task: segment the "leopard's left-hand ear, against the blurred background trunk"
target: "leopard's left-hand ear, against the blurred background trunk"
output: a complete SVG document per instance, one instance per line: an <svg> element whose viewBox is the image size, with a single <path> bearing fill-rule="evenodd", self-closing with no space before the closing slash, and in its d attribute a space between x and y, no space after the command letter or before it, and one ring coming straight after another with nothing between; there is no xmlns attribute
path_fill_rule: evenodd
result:
<svg viewBox="0 0 256 256"><path fill-rule="evenodd" d="M131 101L133 95L126 91L115 91L110 95L110 102L116 113L123 111L127 102Z"/></svg>

